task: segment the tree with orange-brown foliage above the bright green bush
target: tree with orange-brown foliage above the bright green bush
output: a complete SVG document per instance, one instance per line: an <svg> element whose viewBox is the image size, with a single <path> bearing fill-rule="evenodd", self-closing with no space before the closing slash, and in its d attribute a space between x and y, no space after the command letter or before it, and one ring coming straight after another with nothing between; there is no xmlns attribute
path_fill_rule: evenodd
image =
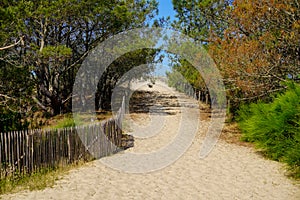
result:
<svg viewBox="0 0 300 200"><path fill-rule="evenodd" d="M299 75L299 15L296 0L234 2L229 27L210 51L236 105L266 99Z"/></svg>

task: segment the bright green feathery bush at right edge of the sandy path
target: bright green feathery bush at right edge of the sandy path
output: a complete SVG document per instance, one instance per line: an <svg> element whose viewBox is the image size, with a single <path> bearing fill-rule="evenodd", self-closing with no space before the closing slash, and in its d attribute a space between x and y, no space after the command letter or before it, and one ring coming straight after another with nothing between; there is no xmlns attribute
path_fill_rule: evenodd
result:
<svg viewBox="0 0 300 200"><path fill-rule="evenodd" d="M252 103L238 112L245 141L255 143L266 156L286 162L300 177L300 85L288 83L271 103Z"/></svg>

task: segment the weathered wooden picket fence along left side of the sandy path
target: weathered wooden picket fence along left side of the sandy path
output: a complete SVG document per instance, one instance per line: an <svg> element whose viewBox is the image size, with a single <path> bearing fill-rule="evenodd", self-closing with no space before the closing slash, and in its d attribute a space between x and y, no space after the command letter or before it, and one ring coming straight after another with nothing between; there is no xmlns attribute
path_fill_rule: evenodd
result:
<svg viewBox="0 0 300 200"><path fill-rule="evenodd" d="M81 127L0 134L0 179L90 161L122 149L124 101L115 118Z"/></svg>

